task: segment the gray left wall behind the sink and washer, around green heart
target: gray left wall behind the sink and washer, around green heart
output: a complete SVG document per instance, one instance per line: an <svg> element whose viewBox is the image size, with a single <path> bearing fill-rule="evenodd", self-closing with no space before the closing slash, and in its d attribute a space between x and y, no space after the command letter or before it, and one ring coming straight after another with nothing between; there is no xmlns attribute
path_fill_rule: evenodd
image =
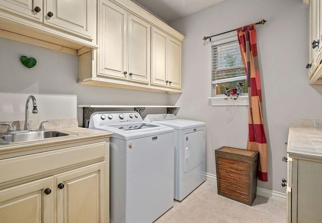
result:
<svg viewBox="0 0 322 223"><path fill-rule="evenodd" d="M36 58L36 66L26 68L23 55ZM0 121L24 120L29 94L39 99L39 114L30 114L31 120L77 116L80 126L77 105L168 104L167 94L81 85L77 78L77 56L0 38Z"/></svg>

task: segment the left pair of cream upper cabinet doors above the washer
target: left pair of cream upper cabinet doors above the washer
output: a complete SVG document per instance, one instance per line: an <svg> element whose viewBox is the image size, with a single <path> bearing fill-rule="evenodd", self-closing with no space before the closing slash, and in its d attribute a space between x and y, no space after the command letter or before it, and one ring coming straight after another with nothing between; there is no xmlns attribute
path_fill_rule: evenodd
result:
<svg viewBox="0 0 322 223"><path fill-rule="evenodd" d="M150 25L109 1L100 2L99 75L149 82Z"/></svg>

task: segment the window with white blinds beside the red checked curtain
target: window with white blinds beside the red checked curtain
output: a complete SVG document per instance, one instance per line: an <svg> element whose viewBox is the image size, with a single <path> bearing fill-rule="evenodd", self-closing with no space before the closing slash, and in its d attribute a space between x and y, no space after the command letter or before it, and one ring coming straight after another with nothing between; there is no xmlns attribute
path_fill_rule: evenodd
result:
<svg viewBox="0 0 322 223"><path fill-rule="evenodd" d="M226 99L227 89L236 89L241 98L248 93L247 77L241 60L236 31L211 38L211 97ZM236 90L235 90L236 92ZM240 97L240 96L239 96ZM237 100L238 101L239 97ZM240 99L241 99L240 98ZM228 99L229 100L229 99ZM226 100L226 102L228 101ZM217 100L219 101L219 99ZM220 105L223 104L221 101ZM241 99L243 101L243 99ZM224 103L227 104L227 103ZM233 104L238 104L233 103ZM248 105L245 100L239 105ZM215 105L215 104L213 104Z"/></svg>

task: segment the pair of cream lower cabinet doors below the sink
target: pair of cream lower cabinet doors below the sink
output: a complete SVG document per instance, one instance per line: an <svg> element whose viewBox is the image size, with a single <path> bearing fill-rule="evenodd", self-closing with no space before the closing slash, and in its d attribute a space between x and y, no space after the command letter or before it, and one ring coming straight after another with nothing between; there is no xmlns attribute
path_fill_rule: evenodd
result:
<svg viewBox="0 0 322 223"><path fill-rule="evenodd" d="M0 190L0 222L107 222L106 161Z"/></svg>

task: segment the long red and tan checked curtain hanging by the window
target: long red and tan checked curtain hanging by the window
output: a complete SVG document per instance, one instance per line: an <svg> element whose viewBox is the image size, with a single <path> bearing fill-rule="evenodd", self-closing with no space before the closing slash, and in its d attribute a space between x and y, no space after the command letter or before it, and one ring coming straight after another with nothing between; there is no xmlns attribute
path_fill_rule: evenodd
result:
<svg viewBox="0 0 322 223"><path fill-rule="evenodd" d="M249 132L247 149L260 153L258 179L268 181L267 142L264 131L262 110L261 78L257 56L256 26L251 24L237 29L241 58L243 59L248 82Z"/></svg>

